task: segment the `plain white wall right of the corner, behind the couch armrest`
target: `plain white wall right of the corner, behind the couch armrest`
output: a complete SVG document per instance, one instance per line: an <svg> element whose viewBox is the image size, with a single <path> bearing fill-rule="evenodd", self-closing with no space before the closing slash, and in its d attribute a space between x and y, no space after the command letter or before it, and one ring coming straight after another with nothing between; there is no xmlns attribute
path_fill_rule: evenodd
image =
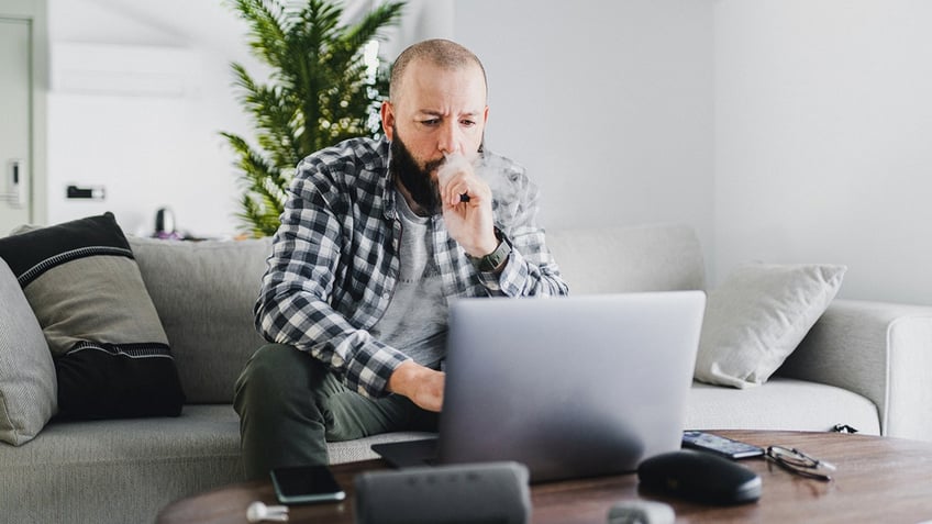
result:
<svg viewBox="0 0 932 524"><path fill-rule="evenodd" d="M720 0L717 275L848 266L841 296L932 304L932 2Z"/></svg>

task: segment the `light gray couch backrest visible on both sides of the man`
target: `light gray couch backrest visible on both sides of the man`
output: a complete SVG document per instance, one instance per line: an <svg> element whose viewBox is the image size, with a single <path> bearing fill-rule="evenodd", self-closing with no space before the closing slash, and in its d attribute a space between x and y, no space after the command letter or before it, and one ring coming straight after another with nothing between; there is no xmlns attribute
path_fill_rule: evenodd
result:
<svg viewBox="0 0 932 524"><path fill-rule="evenodd" d="M188 403L226 403L264 344L253 305L271 239L171 242L130 237L178 366ZM547 232L570 292L703 289L702 250L679 225Z"/></svg>

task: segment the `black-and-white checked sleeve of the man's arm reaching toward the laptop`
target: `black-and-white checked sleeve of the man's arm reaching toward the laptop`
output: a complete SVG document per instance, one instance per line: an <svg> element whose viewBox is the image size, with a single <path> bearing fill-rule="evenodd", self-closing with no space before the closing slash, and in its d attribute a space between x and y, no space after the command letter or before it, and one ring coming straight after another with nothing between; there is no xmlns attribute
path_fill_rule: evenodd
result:
<svg viewBox="0 0 932 524"><path fill-rule="evenodd" d="M310 353L351 390L384 397L389 377L409 358L332 305L345 242L332 209L340 191L306 163L289 191L254 309L256 327L270 342Z"/></svg>

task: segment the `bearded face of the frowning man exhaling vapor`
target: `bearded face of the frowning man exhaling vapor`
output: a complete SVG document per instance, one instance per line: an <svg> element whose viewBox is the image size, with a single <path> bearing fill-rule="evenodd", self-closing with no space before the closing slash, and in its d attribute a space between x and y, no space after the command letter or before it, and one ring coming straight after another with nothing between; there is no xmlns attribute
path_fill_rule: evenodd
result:
<svg viewBox="0 0 932 524"><path fill-rule="evenodd" d="M415 202L440 212L436 170L444 155L473 160L482 143L488 120L482 71L476 65L446 69L415 60L392 100L382 104L381 118L392 172Z"/></svg>

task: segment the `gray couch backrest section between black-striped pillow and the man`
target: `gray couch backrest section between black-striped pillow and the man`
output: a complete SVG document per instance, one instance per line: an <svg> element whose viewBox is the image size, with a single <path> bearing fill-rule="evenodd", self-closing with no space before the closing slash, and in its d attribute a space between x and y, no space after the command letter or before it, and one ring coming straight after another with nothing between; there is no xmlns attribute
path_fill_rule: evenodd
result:
<svg viewBox="0 0 932 524"><path fill-rule="evenodd" d="M253 323L271 239L173 242L130 237L168 335L188 403L229 403L264 344Z"/></svg>

